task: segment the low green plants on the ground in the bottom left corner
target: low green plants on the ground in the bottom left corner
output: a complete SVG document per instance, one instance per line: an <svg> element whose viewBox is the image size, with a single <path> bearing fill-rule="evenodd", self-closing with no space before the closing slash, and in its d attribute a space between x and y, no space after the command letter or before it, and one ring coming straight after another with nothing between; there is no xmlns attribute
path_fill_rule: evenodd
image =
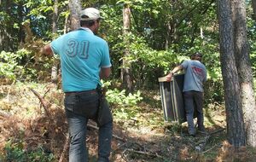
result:
<svg viewBox="0 0 256 162"><path fill-rule="evenodd" d="M42 162L51 162L55 161L53 153L47 153L42 146L34 150L26 150L22 141L14 142L9 140L4 147L5 153L1 154L0 157L4 161L13 161L13 162L26 162L26 161L42 161Z"/></svg>

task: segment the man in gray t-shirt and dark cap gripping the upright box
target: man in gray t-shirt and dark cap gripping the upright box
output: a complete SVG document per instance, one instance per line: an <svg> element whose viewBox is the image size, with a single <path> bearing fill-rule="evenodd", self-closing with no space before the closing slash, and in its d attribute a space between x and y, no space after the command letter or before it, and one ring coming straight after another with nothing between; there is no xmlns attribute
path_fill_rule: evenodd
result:
<svg viewBox="0 0 256 162"><path fill-rule="evenodd" d="M175 72L185 71L183 84L183 97L188 121L189 135L195 136L194 112L197 115L198 130L205 132L203 116L203 83L207 81L207 68L201 63L201 53L196 52L191 56L191 61L183 63L166 76L166 81L171 81Z"/></svg>

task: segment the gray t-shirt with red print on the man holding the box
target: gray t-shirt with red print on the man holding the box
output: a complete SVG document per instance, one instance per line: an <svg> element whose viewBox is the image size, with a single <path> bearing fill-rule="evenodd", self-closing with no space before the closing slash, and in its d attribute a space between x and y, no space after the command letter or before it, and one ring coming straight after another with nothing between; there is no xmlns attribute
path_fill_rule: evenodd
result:
<svg viewBox="0 0 256 162"><path fill-rule="evenodd" d="M201 61L183 61L181 64L185 70L183 92L195 90L203 92L203 82L207 81L207 68Z"/></svg>

